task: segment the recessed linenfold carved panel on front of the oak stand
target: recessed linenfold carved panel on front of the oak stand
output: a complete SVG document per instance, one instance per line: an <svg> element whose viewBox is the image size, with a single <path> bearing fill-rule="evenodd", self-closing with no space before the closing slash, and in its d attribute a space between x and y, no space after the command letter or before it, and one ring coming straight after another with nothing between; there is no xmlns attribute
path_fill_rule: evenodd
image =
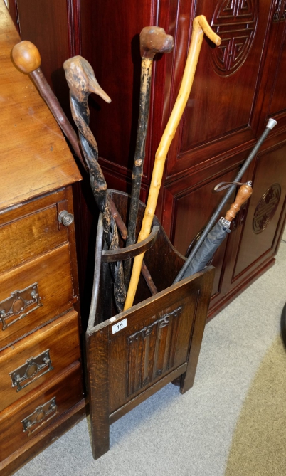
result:
<svg viewBox="0 0 286 476"><path fill-rule="evenodd" d="M182 306L128 337L127 396L172 369Z"/></svg>

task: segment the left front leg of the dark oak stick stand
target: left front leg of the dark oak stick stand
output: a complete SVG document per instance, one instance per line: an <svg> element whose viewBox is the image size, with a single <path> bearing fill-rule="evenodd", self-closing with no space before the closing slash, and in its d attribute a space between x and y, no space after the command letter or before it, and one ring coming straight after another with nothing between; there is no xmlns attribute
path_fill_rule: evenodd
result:
<svg viewBox="0 0 286 476"><path fill-rule="evenodd" d="M92 455L95 460L110 449L107 330L86 334Z"/></svg>

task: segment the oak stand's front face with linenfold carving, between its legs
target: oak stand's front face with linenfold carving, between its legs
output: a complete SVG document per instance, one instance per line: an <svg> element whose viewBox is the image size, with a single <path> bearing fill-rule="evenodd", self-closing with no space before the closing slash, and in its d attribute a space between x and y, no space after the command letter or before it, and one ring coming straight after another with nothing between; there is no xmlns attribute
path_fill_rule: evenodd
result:
<svg viewBox="0 0 286 476"><path fill-rule="evenodd" d="M127 327L109 337L110 413L188 361L203 291L180 299L160 297L127 317ZM161 300L160 300L161 299ZM107 324L109 324L107 322ZM111 324L109 324L111 325Z"/></svg>

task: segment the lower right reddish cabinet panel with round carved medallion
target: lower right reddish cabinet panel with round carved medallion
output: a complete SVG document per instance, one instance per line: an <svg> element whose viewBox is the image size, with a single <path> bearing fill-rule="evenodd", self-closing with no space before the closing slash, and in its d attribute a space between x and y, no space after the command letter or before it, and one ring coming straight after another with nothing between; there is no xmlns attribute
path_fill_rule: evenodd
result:
<svg viewBox="0 0 286 476"><path fill-rule="evenodd" d="M253 195L250 197L243 236L235 243L235 266L226 280L231 287L275 253L282 229L286 194L286 146L260 152L255 163ZM235 240L235 236L233 236ZM228 289L231 289L228 287Z"/></svg>

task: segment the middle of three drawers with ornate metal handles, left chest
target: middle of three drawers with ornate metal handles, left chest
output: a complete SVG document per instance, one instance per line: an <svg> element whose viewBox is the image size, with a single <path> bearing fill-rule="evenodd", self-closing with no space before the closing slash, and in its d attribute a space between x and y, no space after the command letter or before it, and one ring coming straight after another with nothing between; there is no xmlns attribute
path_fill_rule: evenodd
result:
<svg viewBox="0 0 286 476"><path fill-rule="evenodd" d="M0 353L0 411L79 359L75 311L8 347Z"/></svg>

